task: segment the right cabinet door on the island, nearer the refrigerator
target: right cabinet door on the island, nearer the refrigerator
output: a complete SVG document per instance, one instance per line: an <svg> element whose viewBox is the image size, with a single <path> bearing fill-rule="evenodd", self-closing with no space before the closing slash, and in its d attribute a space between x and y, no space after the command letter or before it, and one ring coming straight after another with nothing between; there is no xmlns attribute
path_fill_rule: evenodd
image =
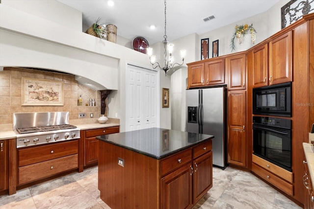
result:
<svg viewBox="0 0 314 209"><path fill-rule="evenodd" d="M193 204L212 187L212 151L193 161Z"/></svg>

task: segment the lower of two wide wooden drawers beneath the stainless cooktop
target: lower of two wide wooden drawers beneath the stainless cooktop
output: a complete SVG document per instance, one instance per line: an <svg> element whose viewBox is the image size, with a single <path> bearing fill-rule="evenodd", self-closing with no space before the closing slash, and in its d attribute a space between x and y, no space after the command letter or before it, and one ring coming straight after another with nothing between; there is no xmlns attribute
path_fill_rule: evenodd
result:
<svg viewBox="0 0 314 209"><path fill-rule="evenodd" d="M78 154L18 168L18 185L78 168Z"/></svg>

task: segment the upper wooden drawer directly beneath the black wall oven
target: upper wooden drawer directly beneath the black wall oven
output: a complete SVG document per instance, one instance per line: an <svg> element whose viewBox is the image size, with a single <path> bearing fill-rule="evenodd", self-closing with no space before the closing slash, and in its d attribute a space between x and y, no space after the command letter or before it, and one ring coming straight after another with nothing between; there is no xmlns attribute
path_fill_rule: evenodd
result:
<svg viewBox="0 0 314 209"><path fill-rule="evenodd" d="M277 176L287 180L288 182L293 183L293 175L288 170L279 167L278 165L275 165L273 163L269 163L268 161L265 161L264 159L256 155L252 155L252 162L260 165L262 168L276 174Z"/></svg>

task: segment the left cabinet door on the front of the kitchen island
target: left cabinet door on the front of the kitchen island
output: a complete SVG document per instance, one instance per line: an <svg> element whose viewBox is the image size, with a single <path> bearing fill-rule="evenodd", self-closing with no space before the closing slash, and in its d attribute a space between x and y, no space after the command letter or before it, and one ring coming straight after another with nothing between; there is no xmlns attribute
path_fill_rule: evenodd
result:
<svg viewBox="0 0 314 209"><path fill-rule="evenodd" d="M161 179L161 209L189 209L193 206L191 173L189 163Z"/></svg>

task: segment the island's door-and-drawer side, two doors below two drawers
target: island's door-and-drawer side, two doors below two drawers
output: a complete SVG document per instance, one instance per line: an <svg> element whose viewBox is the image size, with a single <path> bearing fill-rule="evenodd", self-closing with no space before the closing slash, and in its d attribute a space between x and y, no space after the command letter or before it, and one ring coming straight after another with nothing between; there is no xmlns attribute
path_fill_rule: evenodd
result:
<svg viewBox="0 0 314 209"><path fill-rule="evenodd" d="M211 149L209 140L193 147L193 153L186 150L161 161L161 175L167 173L163 170L172 168L172 172L161 179L162 209L191 208L212 187Z"/></svg>

